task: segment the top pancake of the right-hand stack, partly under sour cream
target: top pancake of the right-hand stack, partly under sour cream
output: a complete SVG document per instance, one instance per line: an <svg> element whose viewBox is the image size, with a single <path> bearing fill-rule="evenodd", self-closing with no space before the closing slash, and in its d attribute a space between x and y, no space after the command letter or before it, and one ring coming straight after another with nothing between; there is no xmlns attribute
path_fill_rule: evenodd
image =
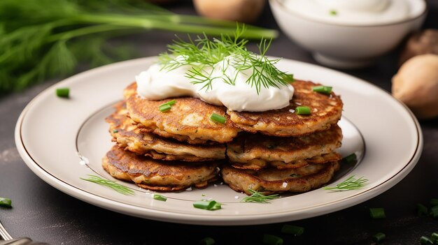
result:
<svg viewBox="0 0 438 245"><path fill-rule="evenodd" d="M343 103L334 94L320 94L312 87L320 84L295 80L292 86L294 96L288 107L266 112L234 112L227 110L234 126L250 133L281 137L306 135L316 131L325 131L341 118ZM298 115L290 110L297 106L309 106L310 115Z"/></svg>

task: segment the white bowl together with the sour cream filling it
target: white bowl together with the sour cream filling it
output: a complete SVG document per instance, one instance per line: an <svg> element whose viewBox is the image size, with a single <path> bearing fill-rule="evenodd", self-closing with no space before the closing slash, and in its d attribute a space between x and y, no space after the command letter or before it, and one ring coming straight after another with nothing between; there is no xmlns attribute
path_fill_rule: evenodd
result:
<svg viewBox="0 0 438 245"><path fill-rule="evenodd" d="M372 64L423 24L425 0L269 0L276 22L321 64Z"/></svg>

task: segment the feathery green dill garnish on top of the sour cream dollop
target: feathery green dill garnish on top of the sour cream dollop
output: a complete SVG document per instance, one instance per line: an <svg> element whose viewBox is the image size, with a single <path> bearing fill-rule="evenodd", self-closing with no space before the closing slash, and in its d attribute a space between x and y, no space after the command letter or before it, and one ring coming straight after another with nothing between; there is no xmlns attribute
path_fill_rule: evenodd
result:
<svg viewBox="0 0 438 245"><path fill-rule="evenodd" d="M266 54L272 39L260 40L259 54L246 49L248 40L242 36L246 32L244 25L237 25L234 36L222 34L220 38L210 39L206 34L188 41L177 37L174 43L168 45L168 52L159 56L162 70L174 70L181 66L190 66L185 77L192 84L203 84L202 89L212 89L213 81L220 79L230 85L235 84L240 73L250 73L247 84L254 87L260 94L262 87L280 87L293 81L293 75L276 68L279 59L269 59ZM219 62L222 62L220 75L213 73ZM234 71L233 71L234 69ZM230 71L231 70L231 71Z"/></svg>

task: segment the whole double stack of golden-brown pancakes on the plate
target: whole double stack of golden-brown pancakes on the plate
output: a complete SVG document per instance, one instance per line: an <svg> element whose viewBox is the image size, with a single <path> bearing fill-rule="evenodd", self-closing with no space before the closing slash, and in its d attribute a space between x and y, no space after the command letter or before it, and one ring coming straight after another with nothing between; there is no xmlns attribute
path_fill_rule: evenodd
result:
<svg viewBox="0 0 438 245"><path fill-rule="evenodd" d="M249 194L304 192L332 179L341 156L342 101L312 90L313 82L295 81L290 105L267 112L235 112L198 98L149 101L124 92L106 118L117 144L104 157L104 169L117 179L154 191L206 186L221 177ZM161 112L163 103L176 101ZM311 114L298 115L297 106ZM225 124L210 119L216 113Z"/></svg>

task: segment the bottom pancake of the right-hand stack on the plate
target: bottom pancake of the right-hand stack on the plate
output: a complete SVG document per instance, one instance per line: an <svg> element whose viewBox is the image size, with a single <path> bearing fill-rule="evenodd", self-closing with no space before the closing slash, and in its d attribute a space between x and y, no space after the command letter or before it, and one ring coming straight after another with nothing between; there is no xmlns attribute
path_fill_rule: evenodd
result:
<svg viewBox="0 0 438 245"><path fill-rule="evenodd" d="M326 164L309 164L302 168L278 170L241 170L225 165L222 178L234 191L243 191L247 195L249 189L260 191L265 195L272 193L302 193L319 188L332 179L339 170L337 161Z"/></svg>

